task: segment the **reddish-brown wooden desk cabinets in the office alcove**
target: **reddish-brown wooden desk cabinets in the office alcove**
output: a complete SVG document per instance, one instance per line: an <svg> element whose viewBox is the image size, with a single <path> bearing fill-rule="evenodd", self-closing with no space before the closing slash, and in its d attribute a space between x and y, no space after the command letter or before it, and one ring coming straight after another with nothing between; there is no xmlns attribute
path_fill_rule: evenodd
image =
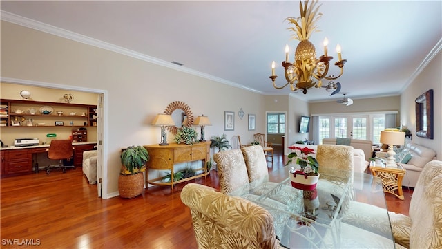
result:
<svg viewBox="0 0 442 249"><path fill-rule="evenodd" d="M73 142L75 167L81 167L83 151L91 150L95 145L97 142ZM1 178L38 172L37 155L46 153L48 148L49 144L1 148Z"/></svg>

